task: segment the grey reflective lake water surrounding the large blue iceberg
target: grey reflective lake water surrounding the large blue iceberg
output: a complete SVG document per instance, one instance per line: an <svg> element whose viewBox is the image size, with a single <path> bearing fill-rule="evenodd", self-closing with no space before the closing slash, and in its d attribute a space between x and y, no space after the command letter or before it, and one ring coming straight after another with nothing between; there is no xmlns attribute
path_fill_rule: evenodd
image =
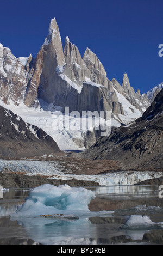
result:
<svg viewBox="0 0 163 256"><path fill-rule="evenodd" d="M79 218L12 218L29 188L0 191L0 245L163 245L163 199L159 186L84 187L95 193Z"/></svg>

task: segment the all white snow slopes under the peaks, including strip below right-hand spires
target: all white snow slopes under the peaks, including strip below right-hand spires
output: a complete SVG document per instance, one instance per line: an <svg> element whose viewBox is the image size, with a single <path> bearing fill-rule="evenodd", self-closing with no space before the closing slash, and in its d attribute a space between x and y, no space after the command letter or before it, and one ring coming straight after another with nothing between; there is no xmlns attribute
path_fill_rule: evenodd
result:
<svg viewBox="0 0 163 256"><path fill-rule="evenodd" d="M141 117L138 109L132 106L122 94L118 93L115 89L118 100L122 102L124 112L126 115L118 114L118 117L111 114L111 119L108 123L109 126L120 127L121 123L129 124L131 121ZM41 101L41 100L40 100ZM5 104L0 100L0 105L4 108L10 109L12 112L20 116L26 123L33 124L57 142L60 150L85 150L100 137L101 132L96 131L99 123L104 122L102 118L92 117L73 117L64 115L60 112L61 107L53 109L52 105L41 101L42 107L27 107L23 102L15 105L14 102L9 101ZM134 109L135 113L133 113ZM67 122L68 127L64 126ZM82 125L81 125L82 124Z"/></svg>

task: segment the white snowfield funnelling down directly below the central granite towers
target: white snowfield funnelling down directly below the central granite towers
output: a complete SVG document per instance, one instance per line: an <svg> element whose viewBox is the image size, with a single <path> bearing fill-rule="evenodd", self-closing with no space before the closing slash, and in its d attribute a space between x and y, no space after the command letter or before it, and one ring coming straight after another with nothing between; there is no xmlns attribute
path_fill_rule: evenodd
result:
<svg viewBox="0 0 163 256"><path fill-rule="evenodd" d="M90 118L76 118L69 117L68 115L62 115L57 109L54 111L49 105L44 102L45 109L27 107L23 102L20 102L18 106L15 106L12 101L9 104L5 104L0 100L0 106L11 110L18 116L20 116L26 123L38 126L51 136L55 142L57 142L60 150L85 150L96 141L96 134L93 128L99 124L99 119ZM60 109L60 108L58 108ZM65 119L64 119L65 118ZM64 120L70 125L70 129L64 128ZM93 123L93 120L95 123ZM87 129L88 121L88 129ZM80 129L80 124L82 130ZM119 125L117 121L117 125Z"/></svg>

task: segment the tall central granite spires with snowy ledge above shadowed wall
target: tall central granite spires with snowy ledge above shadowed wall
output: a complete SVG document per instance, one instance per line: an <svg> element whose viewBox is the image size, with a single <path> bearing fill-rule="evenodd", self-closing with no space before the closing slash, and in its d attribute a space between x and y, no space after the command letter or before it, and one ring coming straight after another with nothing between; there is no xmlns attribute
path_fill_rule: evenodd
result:
<svg viewBox="0 0 163 256"><path fill-rule="evenodd" d="M68 37L62 50L55 19L51 21L50 28L39 52L43 56L45 68L42 68L40 84L37 86L38 97L54 106L61 106L63 112L65 106L70 107L70 112L78 111L80 114L82 111L111 111L113 96L108 96L109 80L95 53L86 48L82 58ZM115 94L113 90L112 93ZM119 106L116 95L114 98ZM115 109L123 114L122 107Z"/></svg>

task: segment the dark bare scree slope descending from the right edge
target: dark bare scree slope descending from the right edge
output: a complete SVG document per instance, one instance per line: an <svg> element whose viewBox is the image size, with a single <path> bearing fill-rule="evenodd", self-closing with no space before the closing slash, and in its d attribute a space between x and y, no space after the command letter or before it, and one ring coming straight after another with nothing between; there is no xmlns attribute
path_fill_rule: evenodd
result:
<svg viewBox="0 0 163 256"><path fill-rule="evenodd" d="M91 159L117 160L125 169L155 169L163 165L163 89L133 124L101 137L90 149L77 154Z"/></svg>

